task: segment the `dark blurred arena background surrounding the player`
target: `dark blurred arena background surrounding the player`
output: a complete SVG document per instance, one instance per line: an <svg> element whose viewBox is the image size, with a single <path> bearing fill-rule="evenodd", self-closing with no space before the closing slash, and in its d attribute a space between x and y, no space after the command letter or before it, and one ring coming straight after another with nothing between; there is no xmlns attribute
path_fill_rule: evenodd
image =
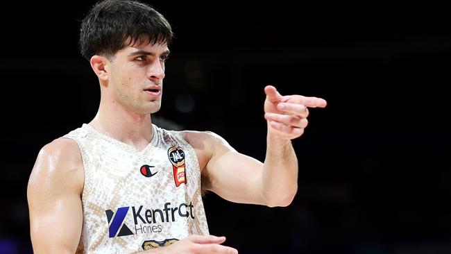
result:
<svg viewBox="0 0 451 254"><path fill-rule="evenodd" d="M40 148L89 122L78 53L94 1L2 3L0 253L31 253L26 185ZM153 1L176 33L155 122L212 130L264 160L263 87L320 96L293 140L287 208L205 197L240 253L451 253L451 9L380 1Z"/></svg>

